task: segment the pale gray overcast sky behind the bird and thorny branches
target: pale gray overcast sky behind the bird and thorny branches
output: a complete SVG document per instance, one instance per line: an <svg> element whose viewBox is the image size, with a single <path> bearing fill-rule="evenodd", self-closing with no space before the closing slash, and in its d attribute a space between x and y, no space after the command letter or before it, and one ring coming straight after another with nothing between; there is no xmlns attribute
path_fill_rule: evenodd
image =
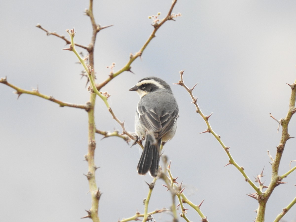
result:
<svg viewBox="0 0 296 222"><path fill-rule="evenodd" d="M65 42L46 36L35 27L40 23L50 31L67 36L75 27L75 41L88 45L89 17L83 15L88 1L2 1L0 7L1 77L23 89L38 86L41 93L65 102L85 104L89 91L83 69L75 64L74 53L61 50ZM94 15L100 25L95 47L97 83L108 77L106 67L115 62L117 71L138 52L153 30L148 16L165 16L171 0L94 1ZM198 85L194 95L210 124L230 146L235 161L254 180L263 167L265 185L271 179L267 150L275 157L281 128L270 118L284 118L289 108L290 88L295 81L296 1L184 1L178 0L174 13L182 16L168 21L148 45L132 71L113 79L102 91L111 94L109 103L128 131L134 131L134 114L139 96L128 91L141 78L157 76L167 81L179 104L176 136L165 145L172 160L171 170L183 181L185 195L195 204L205 199L202 212L209 221L255 220L258 203L234 166L224 167L228 157L206 130L195 112L189 94L181 86L179 71L186 69L184 81ZM85 53L85 52L84 52ZM73 222L81 221L91 207L88 194L87 113L31 95L21 95L0 85L0 218L1 221ZM104 103L96 102L96 127L121 131ZM296 121L289 126L296 136ZM139 176L136 166L138 146L119 138L97 135L95 154L97 186L102 191L101 221L118 221L139 210L144 212L152 178ZM287 142L279 174L296 160L296 139ZM292 163L292 166L295 162ZM273 221L296 196L295 172L278 186L269 199L266 221ZM158 180L149 211L170 207L170 194ZM190 207L187 207L190 208ZM191 221L200 221L188 210ZM156 221L172 221L170 214L155 215ZM89 220L89 219L84 219ZM182 218L180 218L182 221ZM294 206L282 221L296 221Z"/></svg>

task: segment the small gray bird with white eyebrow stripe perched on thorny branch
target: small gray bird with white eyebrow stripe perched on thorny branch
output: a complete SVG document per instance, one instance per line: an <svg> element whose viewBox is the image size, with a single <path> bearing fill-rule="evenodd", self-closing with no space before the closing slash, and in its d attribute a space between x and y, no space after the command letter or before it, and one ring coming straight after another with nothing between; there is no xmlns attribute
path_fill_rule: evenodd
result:
<svg viewBox="0 0 296 222"><path fill-rule="evenodd" d="M135 131L145 145L137 170L141 175L148 171L158 174L160 144L172 139L176 133L179 109L168 83L157 77L141 79L130 91L136 91L140 101L136 110Z"/></svg>

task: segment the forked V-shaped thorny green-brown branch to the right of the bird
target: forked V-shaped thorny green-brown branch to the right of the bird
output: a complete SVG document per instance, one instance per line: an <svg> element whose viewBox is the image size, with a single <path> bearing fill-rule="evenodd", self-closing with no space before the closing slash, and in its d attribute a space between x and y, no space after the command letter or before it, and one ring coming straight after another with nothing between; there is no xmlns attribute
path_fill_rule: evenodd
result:
<svg viewBox="0 0 296 222"><path fill-rule="evenodd" d="M213 129L211 128L210 124L209 124L209 117L212 115L210 114L209 116L205 116L202 111L200 110L200 107L197 104L197 98L193 96L192 94L192 90L194 89L194 87L192 88L188 88L183 81L183 71L180 71L180 76L181 76L181 80L179 80L178 83L174 83L174 84L178 84L183 86L190 94L191 98L192 98L192 103L195 104L196 107L196 112L199 113L202 118L205 120L205 123L207 124L207 130L202 132L209 132L212 133L213 136L218 140L218 142L221 144L221 146L223 147L223 149L225 150L226 154L229 157L229 164L234 165L244 176L245 180L252 186L252 188L256 191L256 193L253 194L247 194L250 197L253 197L254 199L258 200L259 202L259 207L256 210L257 212L257 217L256 217L256 222L263 222L264 218L265 218L265 210L266 210L266 203L271 195L271 193L274 191L275 187L278 186L279 184L284 184L285 182L282 182L282 179L287 177L290 173L292 173L294 170L296 170L296 167L290 169L287 173L285 173L282 176L278 175L278 170L279 170L279 164L280 164L280 160L281 160L281 156L283 154L284 148L285 148L285 144L287 142L288 139L294 138L291 137L290 134L288 133L288 125L289 122L292 118L292 115L295 114L296 112L296 108L295 108L295 100L296 100L296 81L295 83L293 83L292 85L288 84L291 89L291 97L290 97L290 103L289 103L289 110L288 113L286 115L285 118L282 118L281 120L277 120L276 118L274 118L271 114L271 118L273 118L274 120L276 120L279 125L282 126L282 136L281 136L281 141L279 143L279 145L276 147L277 148L277 152L276 152L276 157L273 158L269 151L268 151L268 156L270 157L272 163L272 177L271 177L271 182L269 184L269 186L264 186L264 182L261 181L261 178L263 177L263 170L261 172L260 175L257 175L256 177L256 182L259 183L259 187L257 187L252 181L250 181L249 177L245 174L244 172L244 168L243 167L239 167L239 165L237 165L237 163L234 161L234 159L231 157L230 152L229 152L229 147L226 147L223 142L221 141L221 136L217 135ZM278 129L279 130L279 129ZM263 188L267 188L265 192L263 192ZM279 221L286 213L287 211L296 204L296 198L294 200L292 200L292 202L283 209L283 212L278 215L278 217L276 218L275 221Z"/></svg>

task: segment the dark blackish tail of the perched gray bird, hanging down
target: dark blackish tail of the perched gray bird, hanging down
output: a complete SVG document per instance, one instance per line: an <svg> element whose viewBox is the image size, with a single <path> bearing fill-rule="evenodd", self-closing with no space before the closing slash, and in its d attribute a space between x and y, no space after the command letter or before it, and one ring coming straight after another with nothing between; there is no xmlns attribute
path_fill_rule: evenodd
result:
<svg viewBox="0 0 296 222"><path fill-rule="evenodd" d="M148 170L153 177L156 177L158 174L159 147L161 139L158 141L157 145L154 145L153 143L154 139L147 134L144 149L137 166L138 173L141 175L145 175Z"/></svg>

